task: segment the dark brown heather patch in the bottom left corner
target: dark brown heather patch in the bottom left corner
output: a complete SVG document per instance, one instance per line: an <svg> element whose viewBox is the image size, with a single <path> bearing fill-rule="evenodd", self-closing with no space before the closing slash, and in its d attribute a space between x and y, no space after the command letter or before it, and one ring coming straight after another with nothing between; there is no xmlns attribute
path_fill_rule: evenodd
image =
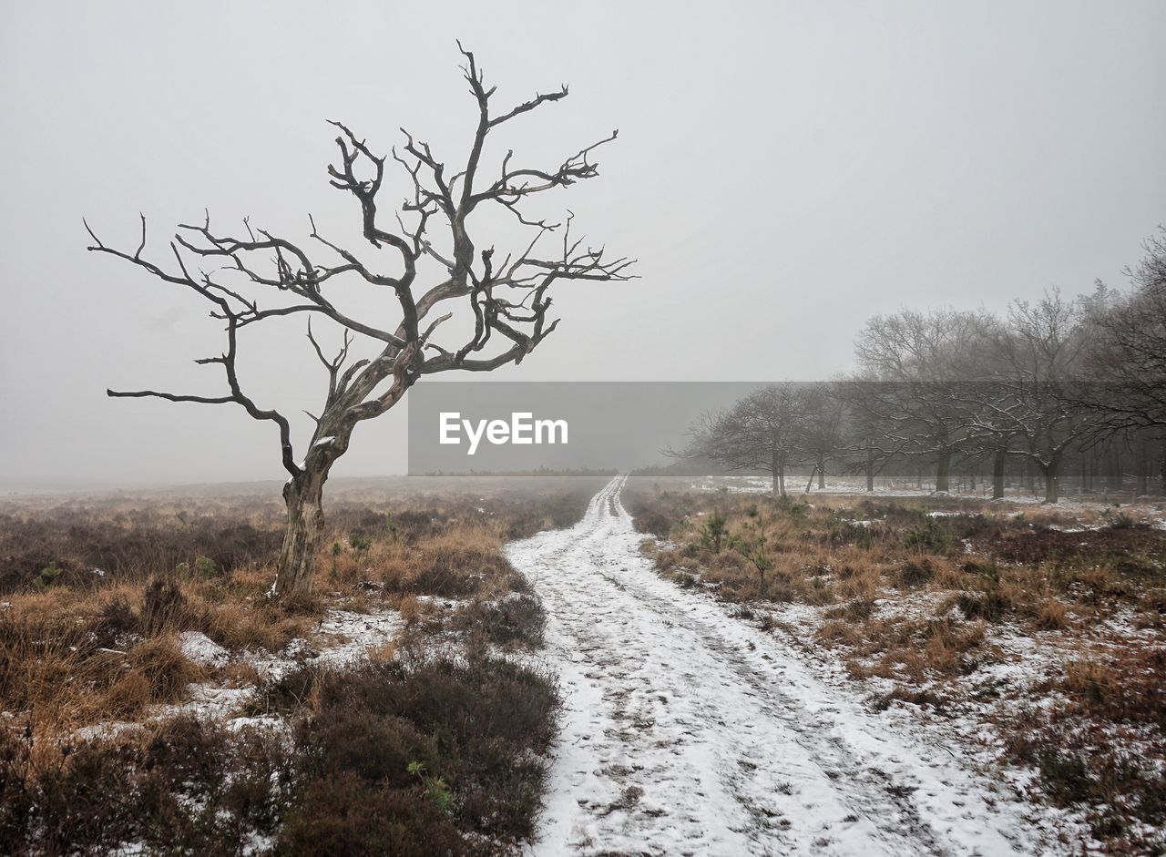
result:
<svg viewBox="0 0 1166 857"><path fill-rule="evenodd" d="M0 851L243 855L275 833L292 774L276 737L178 717L50 759L0 731ZM43 753L40 754L43 757Z"/></svg>

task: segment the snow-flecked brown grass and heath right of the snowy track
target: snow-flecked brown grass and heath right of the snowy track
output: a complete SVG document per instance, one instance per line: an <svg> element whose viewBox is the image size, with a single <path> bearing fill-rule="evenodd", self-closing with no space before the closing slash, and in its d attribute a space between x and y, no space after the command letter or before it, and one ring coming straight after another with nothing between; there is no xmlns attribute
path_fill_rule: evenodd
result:
<svg viewBox="0 0 1166 857"><path fill-rule="evenodd" d="M1086 807L1112 852L1166 848L1146 834L1166 824L1166 533L1144 525L1145 511L937 497L808 506L652 482L632 480L625 505L667 540L641 546L661 574L742 603L738 614L765 630L815 638L873 680L879 705L999 729L1009 759L1033 765L1049 800ZM784 603L817 619L785 619ZM1004 645L1018 637L1047 666L1002 687L989 670L1023 666ZM1060 675L1041 677L1058 663Z"/></svg>

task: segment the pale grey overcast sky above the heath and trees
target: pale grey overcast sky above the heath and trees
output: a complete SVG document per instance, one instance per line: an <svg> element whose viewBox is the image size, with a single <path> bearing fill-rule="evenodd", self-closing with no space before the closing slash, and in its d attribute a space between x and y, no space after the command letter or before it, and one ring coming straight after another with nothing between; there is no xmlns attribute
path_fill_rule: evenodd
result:
<svg viewBox="0 0 1166 857"><path fill-rule="evenodd" d="M204 206L347 234L324 120L463 157L455 38L500 101L570 84L514 124L518 154L619 128L600 178L552 202L640 260L632 283L562 289L560 329L506 380L822 378L876 312L1122 283L1166 220L1158 0L0 8L0 486L282 478L273 426L240 408L105 398L219 394L191 360L220 333L197 296L87 254L80 218L131 250L139 211L164 250ZM322 398L298 324L244 343L261 406ZM403 471L405 422L360 427L333 473Z"/></svg>

